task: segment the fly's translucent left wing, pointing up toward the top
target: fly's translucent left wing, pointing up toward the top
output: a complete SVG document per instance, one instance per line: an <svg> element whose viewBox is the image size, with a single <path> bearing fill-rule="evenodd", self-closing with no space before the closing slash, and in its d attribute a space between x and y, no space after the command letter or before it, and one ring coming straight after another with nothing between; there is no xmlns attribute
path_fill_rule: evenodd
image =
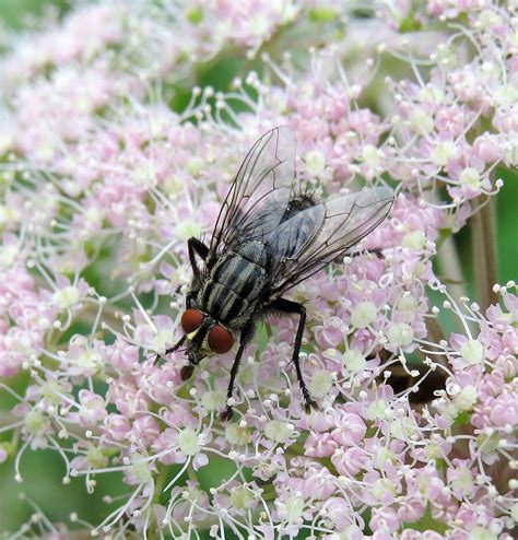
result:
<svg viewBox="0 0 518 540"><path fill-rule="evenodd" d="M284 214L295 176L295 133L279 126L250 149L223 202L210 254L243 239L262 238Z"/></svg>

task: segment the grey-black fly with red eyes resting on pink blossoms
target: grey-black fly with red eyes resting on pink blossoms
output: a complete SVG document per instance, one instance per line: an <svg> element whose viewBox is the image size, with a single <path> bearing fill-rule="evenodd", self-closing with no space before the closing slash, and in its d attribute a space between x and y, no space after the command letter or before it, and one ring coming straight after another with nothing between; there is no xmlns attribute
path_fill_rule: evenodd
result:
<svg viewBox="0 0 518 540"><path fill-rule="evenodd" d="M243 353L257 324L276 313L298 316L293 364L304 398L314 406L298 361L306 309L284 297L295 285L345 255L388 214L393 191L388 187L338 195L315 201L302 195L295 180L295 133L279 126L248 152L223 202L211 242L189 238L192 283L181 316L189 364L183 380L211 354L224 354L238 343L231 369L222 420L233 416L234 383Z"/></svg>

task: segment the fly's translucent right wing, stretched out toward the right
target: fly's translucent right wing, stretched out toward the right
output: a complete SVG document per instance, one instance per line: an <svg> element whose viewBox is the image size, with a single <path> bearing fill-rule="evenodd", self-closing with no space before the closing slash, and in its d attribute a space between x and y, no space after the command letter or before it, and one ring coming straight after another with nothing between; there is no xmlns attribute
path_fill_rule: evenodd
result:
<svg viewBox="0 0 518 540"><path fill-rule="evenodd" d="M372 188L333 197L281 223L268 236L272 293L284 293L343 256L384 221L392 202L390 188Z"/></svg>

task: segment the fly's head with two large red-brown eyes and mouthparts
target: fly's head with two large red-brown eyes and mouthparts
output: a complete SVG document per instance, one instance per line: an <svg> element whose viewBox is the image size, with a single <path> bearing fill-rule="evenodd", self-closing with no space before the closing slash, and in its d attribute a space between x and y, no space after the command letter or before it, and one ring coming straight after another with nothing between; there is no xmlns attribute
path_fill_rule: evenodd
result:
<svg viewBox="0 0 518 540"><path fill-rule="evenodd" d="M186 309L181 316L181 328L187 336L186 356L189 365L181 368L181 378L188 379L195 366L205 356L224 354L234 345L234 336L221 322L199 309Z"/></svg>

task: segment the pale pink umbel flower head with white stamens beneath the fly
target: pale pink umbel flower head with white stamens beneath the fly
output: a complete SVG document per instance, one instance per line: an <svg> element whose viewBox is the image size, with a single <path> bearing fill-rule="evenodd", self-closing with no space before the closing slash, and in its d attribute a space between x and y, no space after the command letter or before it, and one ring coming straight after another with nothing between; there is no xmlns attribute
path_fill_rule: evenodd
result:
<svg viewBox="0 0 518 540"><path fill-rule="evenodd" d="M0 461L32 513L8 538L513 538L518 296L493 212L518 163L517 21L490 0L97 1L3 40ZM318 410L297 321L271 316L225 423L232 352L187 381L181 351L155 357L183 333L188 238L279 125L311 192L397 196L291 292ZM30 489L57 484L50 453L58 510Z"/></svg>

